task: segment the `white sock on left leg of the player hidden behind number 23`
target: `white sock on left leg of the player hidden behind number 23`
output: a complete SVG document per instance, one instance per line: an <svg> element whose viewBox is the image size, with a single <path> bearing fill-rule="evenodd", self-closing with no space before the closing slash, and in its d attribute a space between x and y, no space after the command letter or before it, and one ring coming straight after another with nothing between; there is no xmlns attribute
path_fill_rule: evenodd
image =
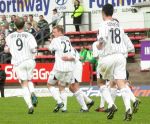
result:
<svg viewBox="0 0 150 124"><path fill-rule="evenodd" d="M81 105L82 109L87 110L88 108L87 108L87 105L86 105L86 103L84 101L84 97L83 97L83 94L82 94L81 90L80 89L77 90L74 93L74 95L75 95L77 101L79 102L79 104Z"/></svg>

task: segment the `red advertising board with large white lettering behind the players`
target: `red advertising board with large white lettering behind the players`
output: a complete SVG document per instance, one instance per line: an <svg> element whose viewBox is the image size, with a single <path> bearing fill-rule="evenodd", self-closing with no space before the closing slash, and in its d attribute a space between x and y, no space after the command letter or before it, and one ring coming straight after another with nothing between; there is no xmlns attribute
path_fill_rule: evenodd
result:
<svg viewBox="0 0 150 124"><path fill-rule="evenodd" d="M33 72L33 82L46 83L54 63L37 63ZM1 64L6 72L6 83L17 83L17 76L11 64ZM92 69L89 62L83 63L82 82L90 83Z"/></svg>

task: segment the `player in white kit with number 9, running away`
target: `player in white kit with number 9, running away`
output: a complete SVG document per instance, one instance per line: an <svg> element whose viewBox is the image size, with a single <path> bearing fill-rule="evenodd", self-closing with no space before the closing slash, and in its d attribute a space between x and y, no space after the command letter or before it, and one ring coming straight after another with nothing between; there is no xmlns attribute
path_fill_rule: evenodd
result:
<svg viewBox="0 0 150 124"><path fill-rule="evenodd" d="M17 31L6 37L5 52L10 52L12 55L11 63L22 86L23 97L29 108L28 114L32 114L33 106L38 103L31 82L36 65L34 55L37 51L37 43L32 34L24 32L24 23L23 18L17 18L15 22Z"/></svg>

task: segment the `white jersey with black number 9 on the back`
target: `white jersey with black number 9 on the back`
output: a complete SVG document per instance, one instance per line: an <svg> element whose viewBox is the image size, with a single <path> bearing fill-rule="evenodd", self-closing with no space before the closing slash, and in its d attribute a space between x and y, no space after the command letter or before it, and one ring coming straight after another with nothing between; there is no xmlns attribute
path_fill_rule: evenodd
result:
<svg viewBox="0 0 150 124"><path fill-rule="evenodd" d="M37 43L28 32L14 32L6 37L6 47L12 55L11 63L18 65L25 60L33 59L33 50L37 47Z"/></svg>

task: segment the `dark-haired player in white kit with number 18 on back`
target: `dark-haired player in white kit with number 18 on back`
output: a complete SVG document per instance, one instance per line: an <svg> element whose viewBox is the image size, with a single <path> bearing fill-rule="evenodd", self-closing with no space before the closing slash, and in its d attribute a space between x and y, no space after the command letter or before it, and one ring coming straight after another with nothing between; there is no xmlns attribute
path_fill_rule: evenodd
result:
<svg viewBox="0 0 150 124"><path fill-rule="evenodd" d="M103 52L100 54L99 72L103 79L115 80L120 89L123 102L125 104L124 120L132 119L132 109L130 103L130 94L126 88L126 57L127 47L125 45L124 31L118 21L112 18L113 6L106 4L102 8L102 17L104 22L100 25L97 47ZM109 101L112 102L112 101ZM112 104L112 103L111 103ZM115 107L111 109L111 119L115 113Z"/></svg>

